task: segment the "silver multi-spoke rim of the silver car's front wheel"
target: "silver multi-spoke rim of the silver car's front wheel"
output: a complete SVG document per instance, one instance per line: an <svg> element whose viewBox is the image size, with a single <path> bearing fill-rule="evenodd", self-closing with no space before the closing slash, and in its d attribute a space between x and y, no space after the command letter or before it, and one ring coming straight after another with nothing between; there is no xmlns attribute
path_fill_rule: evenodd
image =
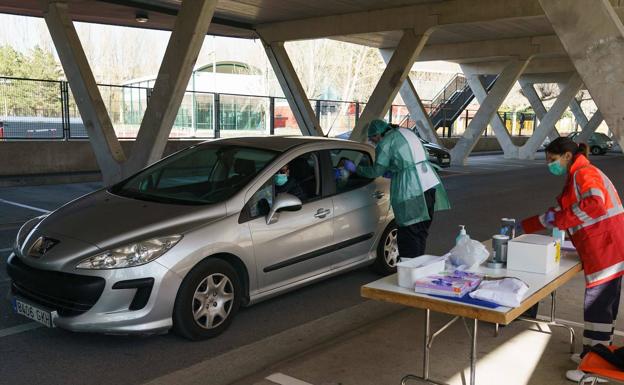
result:
<svg viewBox="0 0 624 385"><path fill-rule="evenodd" d="M195 289L191 305L193 319L203 329L214 329L228 318L233 303L232 281L224 274L211 274Z"/></svg>

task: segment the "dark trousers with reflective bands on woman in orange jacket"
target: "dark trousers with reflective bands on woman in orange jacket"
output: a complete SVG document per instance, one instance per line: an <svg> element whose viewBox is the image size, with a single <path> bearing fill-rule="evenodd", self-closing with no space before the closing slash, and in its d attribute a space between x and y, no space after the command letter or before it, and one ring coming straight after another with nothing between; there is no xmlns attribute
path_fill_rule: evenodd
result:
<svg viewBox="0 0 624 385"><path fill-rule="evenodd" d="M583 353L594 345L612 343L621 289L622 277L585 289Z"/></svg>

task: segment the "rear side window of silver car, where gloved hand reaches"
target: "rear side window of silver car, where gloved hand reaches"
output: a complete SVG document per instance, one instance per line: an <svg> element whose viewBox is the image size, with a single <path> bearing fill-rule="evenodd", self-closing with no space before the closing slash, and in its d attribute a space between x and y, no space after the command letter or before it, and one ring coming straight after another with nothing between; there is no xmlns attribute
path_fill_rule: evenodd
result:
<svg viewBox="0 0 624 385"><path fill-rule="evenodd" d="M331 150L331 163L333 171L333 180L336 183L336 192L342 193L367 185L372 181L371 178L360 176L348 168L348 162L352 166L368 167L373 164L370 154L364 151L356 150Z"/></svg>

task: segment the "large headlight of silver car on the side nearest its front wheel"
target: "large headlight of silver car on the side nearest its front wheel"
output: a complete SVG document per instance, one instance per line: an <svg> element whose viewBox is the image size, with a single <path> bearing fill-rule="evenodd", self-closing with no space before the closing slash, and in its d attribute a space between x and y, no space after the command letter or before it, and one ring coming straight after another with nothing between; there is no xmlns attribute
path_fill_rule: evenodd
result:
<svg viewBox="0 0 624 385"><path fill-rule="evenodd" d="M144 265L165 254L180 239L181 235L171 235L132 243L83 259L76 268L103 270Z"/></svg>

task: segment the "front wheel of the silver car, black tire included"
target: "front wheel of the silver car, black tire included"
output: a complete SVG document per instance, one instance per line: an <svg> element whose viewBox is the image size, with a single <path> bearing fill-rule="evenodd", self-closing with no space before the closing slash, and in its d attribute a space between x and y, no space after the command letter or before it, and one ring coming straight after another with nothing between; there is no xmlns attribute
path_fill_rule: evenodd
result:
<svg viewBox="0 0 624 385"><path fill-rule="evenodd" d="M240 282L236 270L221 259L197 264L178 290L173 308L174 333L192 341L223 333L240 307Z"/></svg>

